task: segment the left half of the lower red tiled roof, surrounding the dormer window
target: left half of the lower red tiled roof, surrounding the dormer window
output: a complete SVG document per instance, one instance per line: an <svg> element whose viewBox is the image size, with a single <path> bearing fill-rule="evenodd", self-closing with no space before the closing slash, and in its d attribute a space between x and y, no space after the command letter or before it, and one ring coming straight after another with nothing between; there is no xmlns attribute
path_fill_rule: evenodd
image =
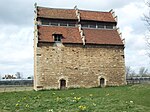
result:
<svg viewBox="0 0 150 112"><path fill-rule="evenodd" d="M39 41L54 42L53 34L62 34L62 43L82 43L77 27L39 26Z"/></svg>

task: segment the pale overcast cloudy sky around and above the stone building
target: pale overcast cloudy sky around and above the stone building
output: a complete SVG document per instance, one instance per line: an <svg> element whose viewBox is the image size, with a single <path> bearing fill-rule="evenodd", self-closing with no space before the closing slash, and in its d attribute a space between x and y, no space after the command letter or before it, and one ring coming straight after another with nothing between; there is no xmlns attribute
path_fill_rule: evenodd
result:
<svg viewBox="0 0 150 112"><path fill-rule="evenodd" d="M145 0L0 0L0 74L21 72L33 75L34 3L52 8L109 11L118 16L118 27L125 38L125 62L138 72L150 69L146 55L146 25L143 14L148 13Z"/></svg>

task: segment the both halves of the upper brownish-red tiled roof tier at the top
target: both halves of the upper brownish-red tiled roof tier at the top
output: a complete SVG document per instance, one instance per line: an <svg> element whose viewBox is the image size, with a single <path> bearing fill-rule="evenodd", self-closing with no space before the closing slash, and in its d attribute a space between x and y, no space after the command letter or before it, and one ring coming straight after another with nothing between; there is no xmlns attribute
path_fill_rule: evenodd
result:
<svg viewBox="0 0 150 112"><path fill-rule="evenodd" d="M110 12L79 10L79 13L81 20L116 22ZM55 9L38 7L38 17L77 20L75 9Z"/></svg>

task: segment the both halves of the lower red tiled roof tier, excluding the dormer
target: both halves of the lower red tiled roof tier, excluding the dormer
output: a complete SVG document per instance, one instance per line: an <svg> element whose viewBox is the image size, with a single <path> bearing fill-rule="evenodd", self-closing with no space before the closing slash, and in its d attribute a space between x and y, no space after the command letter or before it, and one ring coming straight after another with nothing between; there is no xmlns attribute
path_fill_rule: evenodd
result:
<svg viewBox="0 0 150 112"><path fill-rule="evenodd" d="M53 34L62 34L62 43L79 43L82 39L77 27L39 26L39 42L54 42ZM116 30L83 29L86 44L123 45Z"/></svg>

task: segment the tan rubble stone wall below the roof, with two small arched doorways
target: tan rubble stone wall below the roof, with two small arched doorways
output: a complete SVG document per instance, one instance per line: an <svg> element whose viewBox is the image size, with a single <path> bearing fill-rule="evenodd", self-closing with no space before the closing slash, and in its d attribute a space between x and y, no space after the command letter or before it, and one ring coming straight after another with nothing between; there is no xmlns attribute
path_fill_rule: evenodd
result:
<svg viewBox="0 0 150 112"><path fill-rule="evenodd" d="M60 80L66 87L97 87L126 84L123 46L39 43L35 58L35 89L58 89Z"/></svg>

